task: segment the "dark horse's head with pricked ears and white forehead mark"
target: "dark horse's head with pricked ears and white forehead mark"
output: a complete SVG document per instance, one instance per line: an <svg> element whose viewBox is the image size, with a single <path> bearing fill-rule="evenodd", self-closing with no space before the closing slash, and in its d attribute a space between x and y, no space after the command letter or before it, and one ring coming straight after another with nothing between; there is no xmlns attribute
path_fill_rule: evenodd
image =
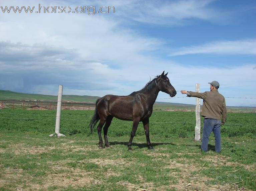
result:
<svg viewBox="0 0 256 191"><path fill-rule="evenodd" d="M167 77L168 72L165 74L165 71L156 78L156 84L158 86L158 89L162 92L165 92L169 94L171 97L174 97L176 95L176 90L170 83L169 78Z"/></svg>

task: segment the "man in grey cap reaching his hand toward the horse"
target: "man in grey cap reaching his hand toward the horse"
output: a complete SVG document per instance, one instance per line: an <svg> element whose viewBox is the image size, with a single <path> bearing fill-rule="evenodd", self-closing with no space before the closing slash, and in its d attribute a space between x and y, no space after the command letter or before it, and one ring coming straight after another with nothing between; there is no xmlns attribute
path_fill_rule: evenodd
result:
<svg viewBox="0 0 256 191"><path fill-rule="evenodd" d="M202 116L204 117L203 138L201 150L208 151L208 140L213 131L215 136L215 151L221 151L220 126L226 122L227 109L225 98L218 91L219 82L209 82L210 90L204 93L182 90L182 94L188 97L197 97L203 99Z"/></svg>

